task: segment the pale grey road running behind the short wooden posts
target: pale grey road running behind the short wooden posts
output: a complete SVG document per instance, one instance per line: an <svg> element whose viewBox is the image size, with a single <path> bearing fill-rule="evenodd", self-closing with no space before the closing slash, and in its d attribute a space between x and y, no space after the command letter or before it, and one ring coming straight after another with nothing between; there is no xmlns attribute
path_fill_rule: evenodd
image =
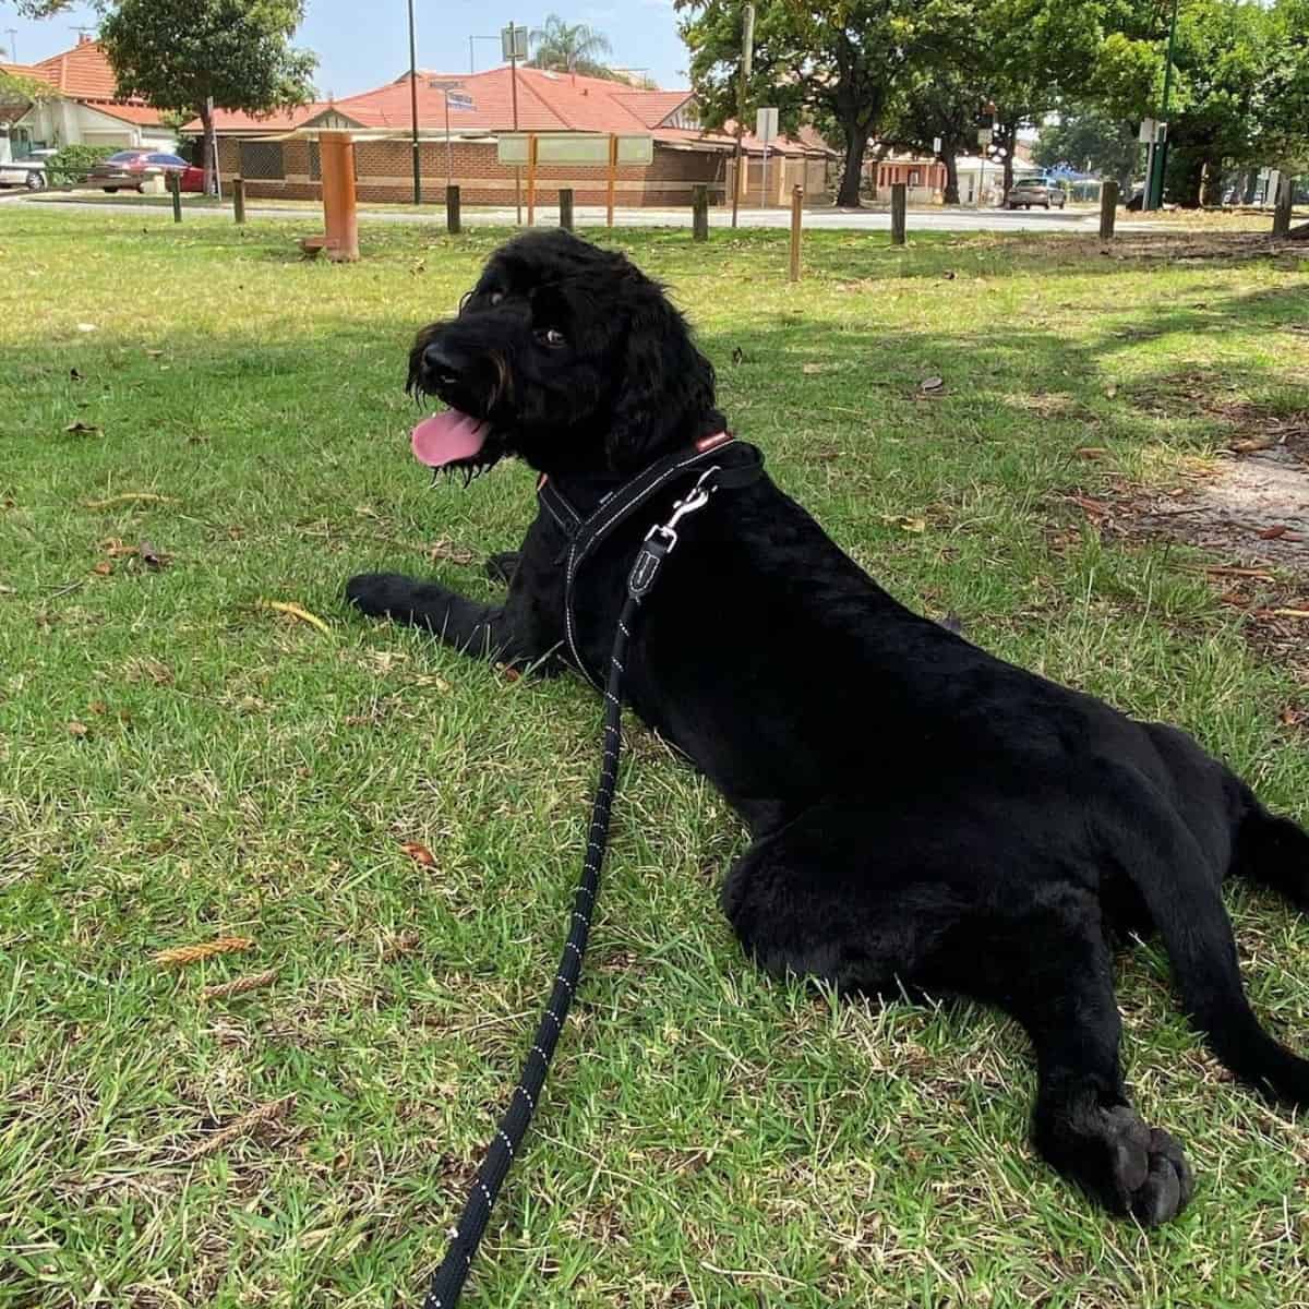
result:
<svg viewBox="0 0 1309 1309"><path fill-rule="evenodd" d="M153 217L156 221L166 223L171 220L168 206L147 204L134 200L115 200L105 203L98 200L76 200L46 198L34 199L22 192L12 192L5 196L10 204L45 204L58 206L60 209L75 212L98 212L106 209L118 212L128 209L134 216ZM281 219L293 223L313 223L317 211L304 208L280 208L275 206L247 204L246 213L253 219ZM187 206L183 211L183 221L192 219L226 219L232 221L228 208L199 208ZM419 209L360 208L359 217L367 223L441 223L445 217L442 206L423 206ZM579 206L575 209L575 220L579 228L603 226L605 209L600 206ZM470 208L463 209L463 221L476 226L508 228L514 225L514 211L512 208ZM785 228L791 221L791 215L785 209L742 209L740 224L744 228ZM555 226L559 223L559 211L552 206L537 207L537 223L541 226ZM732 213L726 208L709 209L709 226L726 228L732 224ZM652 228L674 226L689 228L691 225L691 211L685 209L645 209L645 208L619 208L614 211L614 225L620 228ZM855 232L889 232L891 225L890 213L885 209L805 209L805 228L817 229L848 229ZM1136 221L1134 230L1151 226L1164 228L1166 224L1145 224ZM1085 234L1100 229L1098 213L1093 209L910 209L908 228L911 232L1069 232Z"/></svg>

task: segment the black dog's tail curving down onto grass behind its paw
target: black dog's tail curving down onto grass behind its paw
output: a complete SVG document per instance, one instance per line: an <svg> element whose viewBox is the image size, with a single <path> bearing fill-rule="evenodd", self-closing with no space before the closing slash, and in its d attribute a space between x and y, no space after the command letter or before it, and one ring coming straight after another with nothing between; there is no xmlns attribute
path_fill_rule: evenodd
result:
<svg viewBox="0 0 1309 1309"><path fill-rule="evenodd" d="M1195 838L1162 802L1141 812L1143 784L1149 789L1135 779L1141 840L1127 873L1164 939L1187 1014L1242 1081L1275 1100L1309 1105L1309 1060L1268 1035L1250 1009L1219 878L1206 873Z"/></svg>

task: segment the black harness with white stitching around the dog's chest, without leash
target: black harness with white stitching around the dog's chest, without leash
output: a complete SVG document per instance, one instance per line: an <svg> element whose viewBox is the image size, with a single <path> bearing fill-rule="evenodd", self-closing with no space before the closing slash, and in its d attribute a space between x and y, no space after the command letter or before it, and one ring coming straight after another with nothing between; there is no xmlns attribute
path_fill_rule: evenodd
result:
<svg viewBox="0 0 1309 1309"><path fill-rule="evenodd" d="M559 486L546 475L537 483L537 496L542 508L554 518L568 539L564 569L564 636L573 662L597 690L601 679L586 666L581 654L577 622L573 614L573 592L581 564L596 552L601 543L654 496L694 473L700 474L698 487L706 493L738 490L750 486L763 475L763 454L745 441L737 441L730 432L716 432L696 441L690 449L678 450L652 463L635 478L609 492L597 508L583 517Z"/></svg>

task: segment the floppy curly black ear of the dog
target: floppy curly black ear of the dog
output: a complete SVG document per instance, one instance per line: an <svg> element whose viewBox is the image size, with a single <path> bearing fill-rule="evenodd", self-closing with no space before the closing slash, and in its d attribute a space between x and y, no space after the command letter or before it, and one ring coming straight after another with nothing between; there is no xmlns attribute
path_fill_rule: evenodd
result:
<svg viewBox="0 0 1309 1309"><path fill-rule="evenodd" d="M641 296L627 325L609 465L630 473L703 435L713 408L713 365L695 348L682 315L657 288Z"/></svg>

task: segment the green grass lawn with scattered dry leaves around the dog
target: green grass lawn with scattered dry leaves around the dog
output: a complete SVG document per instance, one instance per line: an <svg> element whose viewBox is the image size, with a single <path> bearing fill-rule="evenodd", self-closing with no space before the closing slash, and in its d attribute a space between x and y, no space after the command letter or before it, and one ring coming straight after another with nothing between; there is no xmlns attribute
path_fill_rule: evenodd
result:
<svg viewBox="0 0 1309 1309"><path fill-rule="evenodd" d="M406 449L411 334L501 237L365 228L334 267L281 224L0 219L3 1306L416 1304L441 1253L552 971L600 708L357 620L340 586L435 568L490 596L480 559L533 512L520 466L429 490ZM1309 407L1309 338L1280 330L1309 263L830 233L792 288L779 234L601 238L672 285L734 428L894 593L1182 723L1309 818L1280 721L1305 687L1195 556L1101 542L1062 499L1173 484L1230 435L1210 398ZM89 507L143 492L166 499ZM1199 1190L1145 1234L1033 1156L1012 1024L753 971L716 903L741 846L634 732L576 1021L470 1305L1309 1301L1309 1138L1224 1080L1157 946L1121 965L1124 1058ZM1250 893L1233 914L1255 1004L1309 1043L1309 927ZM255 944L151 962L224 933Z"/></svg>

